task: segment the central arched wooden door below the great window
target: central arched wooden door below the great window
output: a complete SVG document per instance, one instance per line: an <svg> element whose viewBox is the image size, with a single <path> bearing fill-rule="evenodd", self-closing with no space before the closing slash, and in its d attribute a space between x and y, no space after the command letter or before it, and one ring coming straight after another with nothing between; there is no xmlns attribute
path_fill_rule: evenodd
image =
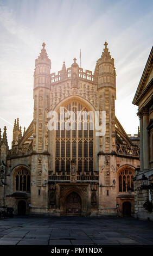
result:
<svg viewBox="0 0 153 256"><path fill-rule="evenodd" d="M66 215L67 216L81 215L81 198L75 192L72 192L66 198Z"/></svg>

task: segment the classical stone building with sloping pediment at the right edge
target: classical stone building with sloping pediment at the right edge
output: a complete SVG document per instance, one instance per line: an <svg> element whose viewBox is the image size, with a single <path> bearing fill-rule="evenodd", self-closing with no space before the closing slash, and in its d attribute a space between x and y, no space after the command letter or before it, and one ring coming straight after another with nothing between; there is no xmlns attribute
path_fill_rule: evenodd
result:
<svg viewBox="0 0 153 256"><path fill-rule="evenodd" d="M133 104L140 120L140 170L135 179L135 217L153 220L153 47L146 62Z"/></svg>

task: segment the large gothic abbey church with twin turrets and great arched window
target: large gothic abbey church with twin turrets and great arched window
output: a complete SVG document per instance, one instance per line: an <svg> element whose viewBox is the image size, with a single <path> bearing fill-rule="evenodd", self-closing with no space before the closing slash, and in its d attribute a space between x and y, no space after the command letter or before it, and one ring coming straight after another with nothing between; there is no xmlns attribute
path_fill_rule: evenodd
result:
<svg viewBox="0 0 153 256"><path fill-rule="evenodd" d="M34 118L22 135L15 120L12 148L1 139L1 208L15 214L133 215L138 135L128 136L115 115L116 71L107 43L94 74L74 62L50 74L45 44L35 61ZM81 119L80 130L48 130L50 110L106 113L105 136ZM66 123L66 119L63 119ZM77 121L76 121L77 123ZM76 124L75 123L75 124ZM101 123L101 119L100 119ZM57 127L60 122L57 121ZM76 124L77 125L77 124Z"/></svg>

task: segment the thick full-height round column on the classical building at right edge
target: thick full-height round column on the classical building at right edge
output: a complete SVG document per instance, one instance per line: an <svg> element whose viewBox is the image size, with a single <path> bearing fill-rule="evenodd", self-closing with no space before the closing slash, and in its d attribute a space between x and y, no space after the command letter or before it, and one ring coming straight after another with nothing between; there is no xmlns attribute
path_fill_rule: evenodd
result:
<svg viewBox="0 0 153 256"><path fill-rule="evenodd" d="M149 169L148 109L143 111L143 169Z"/></svg>

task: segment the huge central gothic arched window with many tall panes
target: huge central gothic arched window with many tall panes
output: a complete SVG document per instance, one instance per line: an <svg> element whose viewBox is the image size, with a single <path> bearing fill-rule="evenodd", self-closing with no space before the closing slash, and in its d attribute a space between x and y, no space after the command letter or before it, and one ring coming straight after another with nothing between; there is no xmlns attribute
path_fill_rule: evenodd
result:
<svg viewBox="0 0 153 256"><path fill-rule="evenodd" d="M63 107L65 115L62 123L60 123L59 119L56 125L58 130L55 131L55 172L69 171L72 159L75 159L76 169L79 172L92 171L93 117L88 113L91 110L78 100L69 101L61 107ZM66 113L69 113L68 111L73 111L73 117L75 117L69 130L66 129L69 118L66 117ZM58 112L58 115L60 117L60 112ZM62 130L60 130L60 127L62 127Z"/></svg>

